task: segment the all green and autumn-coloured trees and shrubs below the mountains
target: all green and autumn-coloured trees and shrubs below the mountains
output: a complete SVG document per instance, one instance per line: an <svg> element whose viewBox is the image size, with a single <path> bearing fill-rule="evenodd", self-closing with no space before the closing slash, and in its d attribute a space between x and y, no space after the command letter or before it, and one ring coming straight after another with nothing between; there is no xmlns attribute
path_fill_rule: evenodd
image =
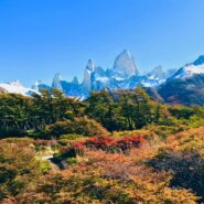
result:
<svg viewBox="0 0 204 204"><path fill-rule="evenodd" d="M39 182L41 181L41 182ZM204 107L143 88L0 94L0 203L204 202Z"/></svg>

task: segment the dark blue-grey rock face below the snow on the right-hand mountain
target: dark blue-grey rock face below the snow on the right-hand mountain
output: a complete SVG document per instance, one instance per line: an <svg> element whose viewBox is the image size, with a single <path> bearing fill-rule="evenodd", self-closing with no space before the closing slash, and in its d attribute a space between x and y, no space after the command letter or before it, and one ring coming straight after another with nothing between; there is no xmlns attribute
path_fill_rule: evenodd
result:
<svg viewBox="0 0 204 204"><path fill-rule="evenodd" d="M167 80L158 93L168 104L204 105L204 75Z"/></svg>

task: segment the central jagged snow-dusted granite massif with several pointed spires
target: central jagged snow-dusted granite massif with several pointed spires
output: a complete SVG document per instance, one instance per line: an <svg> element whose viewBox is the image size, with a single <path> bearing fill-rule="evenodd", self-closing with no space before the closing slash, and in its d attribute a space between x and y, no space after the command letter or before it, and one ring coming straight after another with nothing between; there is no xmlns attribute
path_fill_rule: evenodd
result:
<svg viewBox="0 0 204 204"><path fill-rule="evenodd" d="M103 88L157 87L165 82L168 76L168 72L164 72L162 66L153 68L148 74L139 74L133 56L129 51L124 50L117 55L111 68L104 69L93 60L88 60L82 83L76 77L72 82L63 80L61 75L56 74L51 87L62 89L67 96L86 98L89 92L101 90ZM37 86L43 87L45 85L40 84Z"/></svg>

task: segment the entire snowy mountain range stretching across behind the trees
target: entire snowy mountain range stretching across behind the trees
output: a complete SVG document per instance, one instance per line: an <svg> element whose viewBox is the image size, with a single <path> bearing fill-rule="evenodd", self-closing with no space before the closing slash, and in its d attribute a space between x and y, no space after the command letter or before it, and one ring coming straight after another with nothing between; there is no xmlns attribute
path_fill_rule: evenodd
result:
<svg viewBox="0 0 204 204"><path fill-rule="evenodd" d="M64 80L57 73L51 85L37 80L31 88L25 88L15 80L0 84L0 92L32 95L42 88L57 88L66 96L86 99L92 90L133 89L138 86L168 104L204 105L204 55L178 69L164 71L162 66L157 66L143 74L129 51L124 50L111 68L104 69L88 60L82 83L77 77L72 82Z"/></svg>

